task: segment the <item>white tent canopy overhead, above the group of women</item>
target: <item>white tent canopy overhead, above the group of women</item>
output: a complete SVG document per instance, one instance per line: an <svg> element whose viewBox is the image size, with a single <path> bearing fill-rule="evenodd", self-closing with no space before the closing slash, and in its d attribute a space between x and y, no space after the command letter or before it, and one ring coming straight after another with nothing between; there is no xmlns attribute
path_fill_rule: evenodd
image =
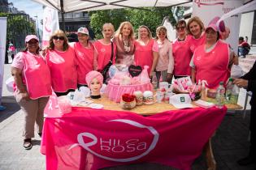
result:
<svg viewBox="0 0 256 170"><path fill-rule="evenodd" d="M117 8L140 8L150 6L177 6L192 0L33 0L54 7L64 13L73 11L98 11Z"/></svg>

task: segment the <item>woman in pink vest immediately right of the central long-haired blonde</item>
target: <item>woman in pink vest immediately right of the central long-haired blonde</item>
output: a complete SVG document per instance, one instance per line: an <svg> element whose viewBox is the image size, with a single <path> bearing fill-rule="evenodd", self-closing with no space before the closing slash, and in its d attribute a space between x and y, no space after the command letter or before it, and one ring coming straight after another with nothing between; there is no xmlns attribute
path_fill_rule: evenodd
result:
<svg viewBox="0 0 256 170"><path fill-rule="evenodd" d="M138 29L138 39L135 41L134 62L137 66L149 66L150 77L158 63L158 44L152 38L150 28L142 25Z"/></svg>

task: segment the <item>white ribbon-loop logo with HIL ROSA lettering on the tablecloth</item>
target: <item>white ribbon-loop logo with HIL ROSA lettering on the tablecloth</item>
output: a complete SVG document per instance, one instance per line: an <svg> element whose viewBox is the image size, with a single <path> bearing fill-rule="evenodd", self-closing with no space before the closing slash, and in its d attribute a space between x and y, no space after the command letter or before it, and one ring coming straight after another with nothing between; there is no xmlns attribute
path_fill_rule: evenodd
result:
<svg viewBox="0 0 256 170"><path fill-rule="evenodd" d="M154 150L154 147L158 143L159 134L158 131L152 126L142 125L137 121L131 121L128 119L115 119L110 122L118 122L119 125L131 125L138 130L146 130L147 133L153 134L151 141L141 139L141 136L137 138L128 138L124 134L124 138L106 138L97 136L96 134L84 132L77 135L77 142L69 148L83 147L86 151L89 151L93 155L96 155L102 159L107 159L115 162L130 162L140 159L141 157L148 155L150 151ZM85 138L89 139L85 142ZM115 155L116 157L113 157Z"/></svg>

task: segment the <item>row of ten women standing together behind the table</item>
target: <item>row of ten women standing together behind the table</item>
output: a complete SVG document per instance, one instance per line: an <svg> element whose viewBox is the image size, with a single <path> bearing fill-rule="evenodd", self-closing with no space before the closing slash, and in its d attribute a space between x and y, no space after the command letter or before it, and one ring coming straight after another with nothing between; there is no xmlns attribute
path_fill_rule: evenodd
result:
<svg viewBox="0 0 256 170"><path fill-rule="evenodd" d="M219 40L215 24L204 30L198 17L176 24L177 39L167 40L167 28L160 26L156 38L150 28L138 28L138 38L132 23L123 22L117 32L111 23L102 27L103 38L93 43L87 28L79 28L79 42L68 43L61 30L50 36L50 44L39 53L37 36L25 39L26 49L15 56L11 73L15 78L15 99L25 113L24 148L32 147L34 123L41 135L43 110L53 90L57 96L65 96L77 87L86 86L85 75L91 70L101 72L110 62L149 66L150 77L156 73L160 79L171 83L174 77L192 77L194 83L205 79L210 88L228 79L232 56L228 45ZM190 69L190 66L192 70Z"/></svg>

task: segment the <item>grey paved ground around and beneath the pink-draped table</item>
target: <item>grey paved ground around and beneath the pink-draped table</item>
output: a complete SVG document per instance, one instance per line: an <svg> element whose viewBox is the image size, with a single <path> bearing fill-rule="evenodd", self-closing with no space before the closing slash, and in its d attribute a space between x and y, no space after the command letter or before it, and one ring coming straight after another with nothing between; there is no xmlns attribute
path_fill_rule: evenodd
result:
<svg viewBox="0 0 256 170"><path fill-rule="evenodd" d="M4 79L10 77L10 65L5 66ZM22 147L22 126L24 122L20 107L6 87L3 87L2 105L7 110L0 112L0 170L46 169L45 156L39 152L40 138L33 139L33 148L25 151ZM241 102L244 102L241 100ZM212 139L217 170L254 170L256 165L240 167L236 159L248 152L249 115L243 118L241 113L228 113ZM36 134L36 133L35 133ZM188 141L189 142L189 141ZM254 167L255 166L255 167ZM133 164L106 170L171 170L160 164ZM206 162L201 155L195 160L193 170L206 170Z"/></svg>

